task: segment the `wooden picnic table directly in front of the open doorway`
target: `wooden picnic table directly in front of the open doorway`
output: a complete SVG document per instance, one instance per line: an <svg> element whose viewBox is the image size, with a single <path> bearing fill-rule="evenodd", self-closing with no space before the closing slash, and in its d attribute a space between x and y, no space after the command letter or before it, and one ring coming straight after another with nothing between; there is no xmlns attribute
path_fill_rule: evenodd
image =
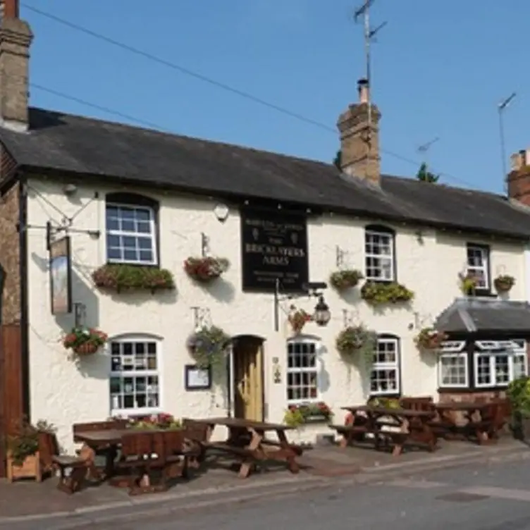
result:
<svg viewBox="0 0 530 530"><path fill-rule="evenodd" d="M260 461L286 462L291 473L300 471L296 457L302 449L289 443L285 432L292 427L282 424L269 424L240 418L197 419L210 427L209 436L216 426L228 428L228 438L223 442L208 441L207 450L220 450L240 460L239 476L246 479ZM276 433L277 440L266 438L266 433Z"/></svg>

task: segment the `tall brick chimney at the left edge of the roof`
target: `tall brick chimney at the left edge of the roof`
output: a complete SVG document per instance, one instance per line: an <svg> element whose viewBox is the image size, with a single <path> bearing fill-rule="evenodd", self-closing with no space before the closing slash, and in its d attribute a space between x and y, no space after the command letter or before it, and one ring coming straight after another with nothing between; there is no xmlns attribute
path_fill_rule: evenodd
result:
<svg viewBox="0 0 530 530"><path fill-rule="evenodd" d="M0 125L25 131L33 34L30 25L18 18L18 0L0 0L0 4Z"/></svg>

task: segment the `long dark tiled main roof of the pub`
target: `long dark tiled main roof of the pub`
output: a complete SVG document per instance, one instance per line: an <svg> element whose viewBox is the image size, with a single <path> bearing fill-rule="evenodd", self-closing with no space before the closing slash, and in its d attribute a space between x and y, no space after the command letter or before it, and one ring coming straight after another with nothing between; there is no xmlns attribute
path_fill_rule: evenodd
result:
<svg viewBox="0 0 530 530"><path fill-rule="evenodd" d="M82 116L30 109L30 132L0 140L22 168L530 238L529 211L500 195L390 175L373 187L333 164Z"/></svg>

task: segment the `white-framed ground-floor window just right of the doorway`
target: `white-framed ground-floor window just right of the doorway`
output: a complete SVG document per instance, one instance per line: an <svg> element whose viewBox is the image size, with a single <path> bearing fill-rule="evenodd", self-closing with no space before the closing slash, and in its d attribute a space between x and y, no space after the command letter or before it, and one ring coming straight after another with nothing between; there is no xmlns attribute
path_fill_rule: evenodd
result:
<svg viewBox="0 0 530 530"><path fill-rule="evenodd" d="M320 343L312 338L293 338L287 343L287 403L318 401L319 369L316 354Z"/></svg>

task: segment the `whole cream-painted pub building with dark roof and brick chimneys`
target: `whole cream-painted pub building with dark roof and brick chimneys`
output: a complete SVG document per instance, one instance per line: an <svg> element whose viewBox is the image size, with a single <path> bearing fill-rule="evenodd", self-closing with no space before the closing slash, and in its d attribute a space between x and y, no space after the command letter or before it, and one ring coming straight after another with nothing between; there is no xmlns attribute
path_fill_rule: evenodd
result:
<svg viewBox="0 0 530 530"><path fill-rule="evenodd" d="M35 109L32 33L16 0L4 4L4 431L20 414L47 419L68 448L78 421L156 412L282 421L307 402L342 421L341 406L371 395L464 399L526 374L523 155L510 197L381 175L381 114L373 106L369 121L366 82L338 120L341 171ZM302 294L313 291L323 298L307 319L318 297ZM221 349L190 335L212 325L233 341L202 369ZM108 340L70 355L63 338L75 326ZM336 346L345 328L349 357ZM414 342L424 328L436 328L434 351ZM326 432L314 423L297 436Z"/></svg>

